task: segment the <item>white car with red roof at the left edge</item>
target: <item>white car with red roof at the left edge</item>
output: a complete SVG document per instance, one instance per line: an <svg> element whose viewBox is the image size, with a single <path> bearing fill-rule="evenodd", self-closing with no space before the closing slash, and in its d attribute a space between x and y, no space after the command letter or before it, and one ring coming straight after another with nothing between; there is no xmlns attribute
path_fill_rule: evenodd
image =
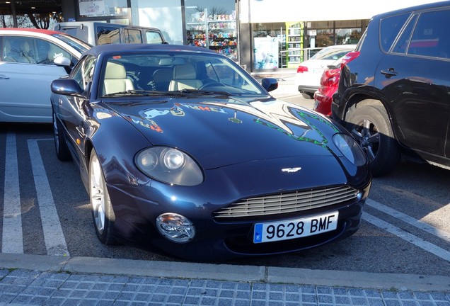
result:
<svg viewBox="0 0 450 306"><path fill-rule="evenodd" d="M90 47L52 30L1 28L0 121L51 123L50 83Z"/></svg>

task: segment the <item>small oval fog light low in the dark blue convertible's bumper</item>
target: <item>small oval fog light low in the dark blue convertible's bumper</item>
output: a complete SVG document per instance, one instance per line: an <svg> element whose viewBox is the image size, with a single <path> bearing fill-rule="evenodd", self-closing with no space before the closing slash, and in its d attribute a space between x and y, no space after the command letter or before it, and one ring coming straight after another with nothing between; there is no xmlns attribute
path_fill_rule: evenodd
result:
<svg viewBox="0 0 450 306"><path fill-rule="evenodd" d="M156 218L158 231L173 242L189 242L195 236L195 227L187 217L171 212Z"/></svg>

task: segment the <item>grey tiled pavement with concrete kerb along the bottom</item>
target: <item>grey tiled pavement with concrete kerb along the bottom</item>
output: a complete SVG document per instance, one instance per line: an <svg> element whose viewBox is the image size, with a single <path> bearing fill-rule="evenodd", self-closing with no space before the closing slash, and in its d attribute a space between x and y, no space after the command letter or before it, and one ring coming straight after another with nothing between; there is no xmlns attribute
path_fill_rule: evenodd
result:
<svg viewBox="0 0 450 306"><path fill-rule="evenodd" d="M450 306L450 277L0 254L1 305Z"/></svg>

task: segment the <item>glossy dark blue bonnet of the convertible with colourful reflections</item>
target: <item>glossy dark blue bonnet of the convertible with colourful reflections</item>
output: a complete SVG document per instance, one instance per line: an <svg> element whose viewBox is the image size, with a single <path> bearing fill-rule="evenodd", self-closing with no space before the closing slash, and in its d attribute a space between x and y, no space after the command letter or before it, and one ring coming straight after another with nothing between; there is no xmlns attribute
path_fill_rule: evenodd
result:
<svg viewBox="0 0 450 306"><path fill-rule="evenodd" d="M151 145L177 147L204 169L265 159L335 157L330 120L264 98L168 98L105 102Z"/></svg>

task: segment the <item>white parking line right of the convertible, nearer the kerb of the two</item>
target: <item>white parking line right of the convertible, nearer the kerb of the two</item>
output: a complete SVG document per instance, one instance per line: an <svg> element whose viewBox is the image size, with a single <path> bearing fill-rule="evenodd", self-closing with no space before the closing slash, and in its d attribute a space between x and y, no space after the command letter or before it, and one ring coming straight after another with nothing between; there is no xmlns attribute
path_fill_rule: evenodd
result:
<svg viewBox="0 0 450 306"><path fill-rule="evenodd" d="M400 237L401 239L404 239L407 242L410 242L411 244L420 247L420 249L424 249L425 251L428 251L429 253L432 253L446 261L450 261L450 251L442 249L441 247L432 244L431 242L427 242L424 239L419 238L413 234L410 234L409 232L406 232L403 229L395 227L391 225L391 223L385 222L377 217L374 217L373 215L370 215L367 212L364 212L362 214L362 218L367 222L370 222L371 224L376 225L377 227L380 227L381 229L384 229L387 232L390 232L391 234L394 234L397 237Z"/></svg>

